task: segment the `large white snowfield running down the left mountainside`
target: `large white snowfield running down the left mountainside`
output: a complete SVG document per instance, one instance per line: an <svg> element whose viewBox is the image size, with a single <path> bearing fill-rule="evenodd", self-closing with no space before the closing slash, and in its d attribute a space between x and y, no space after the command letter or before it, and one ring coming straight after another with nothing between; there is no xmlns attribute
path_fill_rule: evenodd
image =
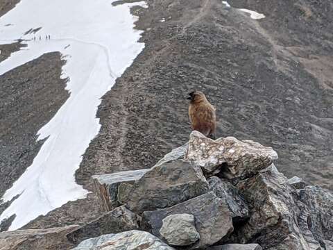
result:
<svg viewBox="0 0 333 250"><path fill-rule="evenodd" d="M130 14L130 6L146 4L111 3L22 0L0 19L0 44L19 38L27 44L0 63L0 75L43 53L60 51L67 60L62 78L69 78L70 92L58 113L40 128L38 140L47 139L33 164L2 197L2 201L10 201L20 194L0 215L1 222L16 214L9 230L87 195L87 190L76 184L74 173L89 142L99 133L97 107L103 94L144 48L137 42L141 32L134 30L137 17ZM40 30L24 35L31 28Z"/></svg>

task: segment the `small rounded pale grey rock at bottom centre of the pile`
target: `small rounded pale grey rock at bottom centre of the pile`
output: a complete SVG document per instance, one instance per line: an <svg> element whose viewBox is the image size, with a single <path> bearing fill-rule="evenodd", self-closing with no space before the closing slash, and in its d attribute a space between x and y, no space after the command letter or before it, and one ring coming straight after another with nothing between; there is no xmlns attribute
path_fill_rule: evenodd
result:
<svg viewBox="0 0 333 250"><path fill-rule="evenodd" d="M162 219L160 235L171 246L187 246L200 239L194 216L189 214L169 215Z"/></svg>

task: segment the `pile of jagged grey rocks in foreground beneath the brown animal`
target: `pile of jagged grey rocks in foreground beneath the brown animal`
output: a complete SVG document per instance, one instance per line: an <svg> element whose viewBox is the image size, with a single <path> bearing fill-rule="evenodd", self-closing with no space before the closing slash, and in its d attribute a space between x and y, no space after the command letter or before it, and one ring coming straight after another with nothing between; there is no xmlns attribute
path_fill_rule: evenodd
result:
<svg viewBox="0 0 333 250"><path fill-rule="evenodd" d="M57 230L76 250L332 249L333 194L288 180L277 158L257 142L194 131L151 169L93 176L105 215ZM0 246L20 235L0 233Z"/></svg>

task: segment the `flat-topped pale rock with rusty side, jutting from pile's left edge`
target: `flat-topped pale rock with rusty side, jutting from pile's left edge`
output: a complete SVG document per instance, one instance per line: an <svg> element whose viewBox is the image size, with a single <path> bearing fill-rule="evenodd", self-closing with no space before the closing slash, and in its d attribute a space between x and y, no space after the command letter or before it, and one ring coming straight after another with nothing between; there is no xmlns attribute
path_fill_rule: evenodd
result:
<svg viewBox="0 0 333 250"><path fill-rule="evenodd" d="M105 211L111 211L119 205L117 201L118 186L120 183L134 183L141 178L149 169L117 172L114 174L103 174L92 176L96 193L101 199L101 206Z"/></svg>

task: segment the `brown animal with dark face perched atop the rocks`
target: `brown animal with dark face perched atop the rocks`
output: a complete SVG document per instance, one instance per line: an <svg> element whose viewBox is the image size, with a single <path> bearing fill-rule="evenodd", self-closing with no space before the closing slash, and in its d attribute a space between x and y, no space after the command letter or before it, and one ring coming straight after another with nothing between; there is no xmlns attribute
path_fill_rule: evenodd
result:
<svg viewBox="0 0 333 250"><path fill-rule="evenodd" d="M200 91L189 93L189 119L193 130L203 133L208 138L215 139L216 108L207 101L205 94Z"/></svg>

